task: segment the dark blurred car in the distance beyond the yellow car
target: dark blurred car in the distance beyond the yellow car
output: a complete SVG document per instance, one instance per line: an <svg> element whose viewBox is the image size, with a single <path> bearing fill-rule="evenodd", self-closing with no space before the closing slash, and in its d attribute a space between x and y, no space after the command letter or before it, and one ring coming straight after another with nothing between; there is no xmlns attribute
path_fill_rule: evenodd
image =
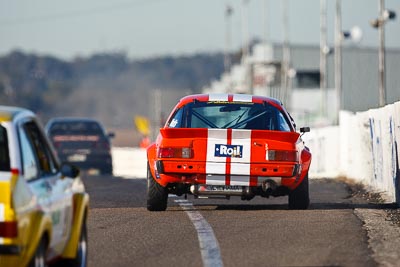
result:
<svg viewBox="0 0 400 267"><path fill-rule="evenodd" d="M97 169L112 175L113 165L110 138L102 124L90 118L54 118L46 125L46 134L61 162L81 170Z"/></svg>

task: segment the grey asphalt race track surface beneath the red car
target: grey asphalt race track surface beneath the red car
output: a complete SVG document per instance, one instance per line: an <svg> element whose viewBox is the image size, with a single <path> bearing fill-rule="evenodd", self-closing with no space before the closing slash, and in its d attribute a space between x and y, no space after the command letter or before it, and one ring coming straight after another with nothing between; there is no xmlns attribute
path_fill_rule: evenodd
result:
<svg viewBox="0 0 400 267"><path fill-rule="evenodd" d="M312 204L305 211L288 210L286 197L241 201L188 196L187 200L170 197L165 212L149 212L145 179L85 176L83 180L91 196L92 267L379 266L386 260L386 266L395 266L399 262L398 252L379 251L382 242L374 245L360 219L372 213L385 221L385 209L392 205L352 197L343 182L311 180ZM386 223L399 233L398 226ZM386 228L382 231L389 233Z"/></svg>

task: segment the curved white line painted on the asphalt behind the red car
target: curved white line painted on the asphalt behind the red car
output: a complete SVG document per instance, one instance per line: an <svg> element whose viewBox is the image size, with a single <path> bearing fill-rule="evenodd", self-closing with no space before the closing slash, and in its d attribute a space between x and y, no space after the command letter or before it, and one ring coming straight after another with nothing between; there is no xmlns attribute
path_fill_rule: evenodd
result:
<svg viewBox="0 0 400 267"><path fill-rule="evenodd" d="M218 240L215 238L214 231L210 224L189 201L184 199L176 199L174 201L186 212L197 231L204 267L224 266Z"/></svg>

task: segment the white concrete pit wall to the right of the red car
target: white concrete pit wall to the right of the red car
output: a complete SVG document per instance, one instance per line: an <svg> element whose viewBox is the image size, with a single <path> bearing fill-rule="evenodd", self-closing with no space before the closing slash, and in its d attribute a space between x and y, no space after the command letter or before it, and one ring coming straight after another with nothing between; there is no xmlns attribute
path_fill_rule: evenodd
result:
<svg viewBox="0 0 400 267"><path fill-rule="evenodd" d="M338 126L312 128L303 140L313 155L311 178L353 179L400 204L400 102L355 114L341 111Z"/></svg>

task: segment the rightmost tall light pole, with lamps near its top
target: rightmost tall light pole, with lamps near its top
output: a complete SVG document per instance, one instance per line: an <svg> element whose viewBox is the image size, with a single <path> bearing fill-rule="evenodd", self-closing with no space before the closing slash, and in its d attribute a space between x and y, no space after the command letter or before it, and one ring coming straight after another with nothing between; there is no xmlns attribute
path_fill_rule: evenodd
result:
<svg viewBox="0 0 400 267"><path fill-rule="evenodd" d="M385 77L385 23L396 18L396 13L385 9L385 1L379 0L379 17L372 20L371 26L379 31L379 106L386 105L386 77Z"/></svg>

